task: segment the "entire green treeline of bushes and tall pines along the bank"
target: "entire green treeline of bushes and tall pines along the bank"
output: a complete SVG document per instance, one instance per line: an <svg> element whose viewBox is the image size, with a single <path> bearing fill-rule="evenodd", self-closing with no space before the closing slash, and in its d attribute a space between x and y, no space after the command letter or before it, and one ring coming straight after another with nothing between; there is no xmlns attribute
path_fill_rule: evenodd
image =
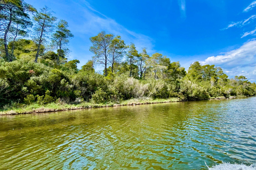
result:
<svg viewBox="0 0 256 170"><path fill-rule="evenodd" d="M44 7L20 0L1 1L0 107L38 103L119 103L131 98L201 100L253 96L256 84L228 79L220 67L194 62L186 72L179 62L147 49L138 51L120 36L102 31L91 37L92 60L77 69L67 61L68 23ZM30 18L32 16L32 18ZM103 75L94 71L101 65Z"/></svg>

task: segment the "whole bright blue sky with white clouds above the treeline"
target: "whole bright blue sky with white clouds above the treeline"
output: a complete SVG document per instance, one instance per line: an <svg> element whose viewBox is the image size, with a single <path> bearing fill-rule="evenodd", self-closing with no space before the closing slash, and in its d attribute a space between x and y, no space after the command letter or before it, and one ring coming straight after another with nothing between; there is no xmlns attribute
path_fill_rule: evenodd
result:
<svg viewBox="0 0 256 170"><path fill-rule="evenodd" d="M84 65L93 54L90 37L104 30L139 52L162 53L188 69L195 61L221 66L230 78L256 81L256 1L253 0L25 0L47 5L69 23L69 60ZM255 39L254 39L255 38Z"/></svg>

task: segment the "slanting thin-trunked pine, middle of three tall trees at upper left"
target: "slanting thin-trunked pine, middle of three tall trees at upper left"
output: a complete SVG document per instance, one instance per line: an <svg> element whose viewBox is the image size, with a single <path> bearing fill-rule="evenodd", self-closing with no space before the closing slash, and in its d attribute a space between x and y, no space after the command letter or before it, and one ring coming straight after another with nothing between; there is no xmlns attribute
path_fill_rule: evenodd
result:
<svg viewBox="0 0 256 170"><path fill-rule="evenodd" d="M46 41L47 35L53 31L54 22L57 20L55 16L52 16L50 8L45 6L40 9L40 12L34 13L33 20L35 22L35 35L33 37L37 44L37 53L35 57L35 63L37 63L40 47L44 41Z"/></svg>

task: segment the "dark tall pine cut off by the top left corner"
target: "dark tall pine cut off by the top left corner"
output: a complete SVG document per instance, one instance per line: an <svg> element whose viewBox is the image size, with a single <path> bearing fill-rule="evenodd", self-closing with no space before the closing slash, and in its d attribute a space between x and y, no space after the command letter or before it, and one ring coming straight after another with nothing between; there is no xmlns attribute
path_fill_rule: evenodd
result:
<svg viewBox="0 0 256 170"><path fill-rule="evenodd" d="M35 11L31 5L22 0L2 0L0 4L0 28L4 32L4 48L7 61L11 62L9 55L7 36L12 24L21 25L22 28L31 27L28 11Z"/></svg>

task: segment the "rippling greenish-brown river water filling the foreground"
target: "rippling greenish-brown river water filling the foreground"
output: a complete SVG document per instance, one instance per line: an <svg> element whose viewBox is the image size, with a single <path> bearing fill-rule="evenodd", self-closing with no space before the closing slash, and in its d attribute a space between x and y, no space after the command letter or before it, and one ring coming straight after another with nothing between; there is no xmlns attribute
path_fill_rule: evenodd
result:
<svg viewBox="0 0 256 170"><path fill-rule="evenodd" d="M0 153L0 169L255 169L256 97L1 116Z"/></svg>

